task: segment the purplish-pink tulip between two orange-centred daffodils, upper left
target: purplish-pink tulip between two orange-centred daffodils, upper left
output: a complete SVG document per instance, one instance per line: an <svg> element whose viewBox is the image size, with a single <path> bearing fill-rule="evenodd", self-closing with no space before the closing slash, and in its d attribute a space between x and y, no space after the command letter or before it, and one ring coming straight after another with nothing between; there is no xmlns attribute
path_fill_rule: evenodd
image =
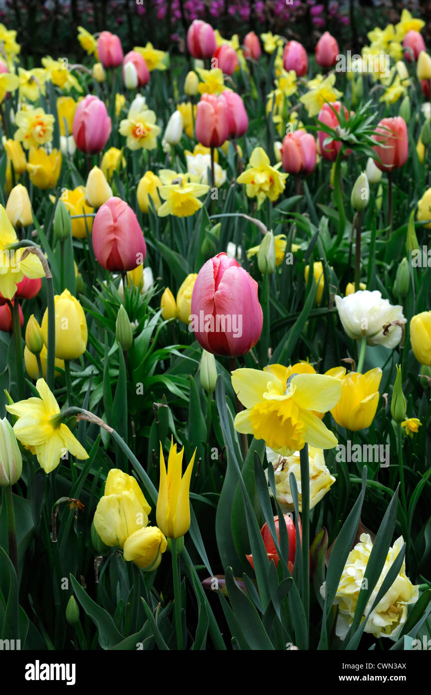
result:
<svg viewBox="0 0 431 695"><path fill-rule="evenodd" d="M76 107L74 116L76 147L85 154L98 154L111 134L111 120L103 101L87 95Z"/></svg>

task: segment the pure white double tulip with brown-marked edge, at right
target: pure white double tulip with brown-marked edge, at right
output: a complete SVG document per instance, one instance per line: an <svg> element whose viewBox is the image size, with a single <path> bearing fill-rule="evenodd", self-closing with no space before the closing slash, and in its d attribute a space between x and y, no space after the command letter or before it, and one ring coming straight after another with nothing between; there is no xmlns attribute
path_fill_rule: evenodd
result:
<svg viewBox="0 0 431 695"><path fill-rule="evenodd" d="M359 290L347 297L335 295L335 304L343 328L350 338L360 341L366 338L368 345L383 345L391 349L401 340L400 325L394 321L406 323L403 307L389 304L382 299L378 290Z"/></svg>

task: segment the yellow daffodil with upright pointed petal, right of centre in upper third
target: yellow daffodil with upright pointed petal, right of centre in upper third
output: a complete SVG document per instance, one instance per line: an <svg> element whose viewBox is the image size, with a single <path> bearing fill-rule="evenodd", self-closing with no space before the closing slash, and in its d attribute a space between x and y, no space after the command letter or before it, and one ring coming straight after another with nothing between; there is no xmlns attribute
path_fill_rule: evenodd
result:
<svg viewBox="0 0 431 695"><path fill-rule="evenodd" d="M237 178L237 183L246 184L246 194L249 198L257 197L257 207L260 208L265 198L274 201L285 190L288 174L279 172L281 162L271 167L269 156L262 147L255 147L251 153L248 167Z"/></svg>

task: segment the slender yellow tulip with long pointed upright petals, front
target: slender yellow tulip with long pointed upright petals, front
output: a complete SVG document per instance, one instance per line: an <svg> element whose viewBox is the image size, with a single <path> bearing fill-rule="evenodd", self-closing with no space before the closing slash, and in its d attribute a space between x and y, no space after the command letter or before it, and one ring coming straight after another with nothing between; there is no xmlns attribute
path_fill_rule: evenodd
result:
<svg viewBox="0 0 431 695"><path fill-rule="evenodd" d="M167 538L180 538L190 528L190 478L196 449L186 471L181 477L184 447L177 454L176 444L171 441L168 467L164 464L160 442L160 486L157 500L157 524Z"/></svg>

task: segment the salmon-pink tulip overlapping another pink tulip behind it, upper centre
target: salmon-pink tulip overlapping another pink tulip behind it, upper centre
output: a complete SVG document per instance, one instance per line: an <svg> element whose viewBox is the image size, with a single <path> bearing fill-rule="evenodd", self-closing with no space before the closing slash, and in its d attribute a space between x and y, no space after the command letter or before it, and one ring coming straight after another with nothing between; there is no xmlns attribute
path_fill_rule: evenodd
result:
<svg viewBox="0 0 431 695"><path fill-rule="evenodd" d="M203 94L196 111L196 138L204 147L220 147L228 139L229 117L226 99Z"/></svg>

